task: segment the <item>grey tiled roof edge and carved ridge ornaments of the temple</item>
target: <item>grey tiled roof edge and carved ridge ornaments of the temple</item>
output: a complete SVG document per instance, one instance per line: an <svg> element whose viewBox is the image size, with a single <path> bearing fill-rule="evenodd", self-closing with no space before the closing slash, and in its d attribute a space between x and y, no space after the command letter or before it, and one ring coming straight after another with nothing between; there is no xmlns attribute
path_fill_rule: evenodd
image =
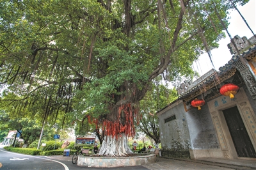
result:
<svg viewBox="0 0 256 170"><path fill-rule="evenodd" d="M231 54L234 54L230 61L224 66L219 68L219 72L211 69L209 72L202 75L199 79L194 82L184 82L180 84L180 88L177 88L179 99L183 99L186 102L195 98L196 96L202 94L203 91L207 91L212 87L216 86L216 84L220 84L226 79L232 77L236 73L236 65L237 61L239 61L239 54L248 60L254 59L256 56L256 38L252 36L249 40L244 36L240 38L239 36L234 37L234 42L237 45L236 51L234 45L232 43L228 44L228 48L230 49ZM243 52L243 53L241 53ZM238 54L237 54L238 53Z"/></svg>

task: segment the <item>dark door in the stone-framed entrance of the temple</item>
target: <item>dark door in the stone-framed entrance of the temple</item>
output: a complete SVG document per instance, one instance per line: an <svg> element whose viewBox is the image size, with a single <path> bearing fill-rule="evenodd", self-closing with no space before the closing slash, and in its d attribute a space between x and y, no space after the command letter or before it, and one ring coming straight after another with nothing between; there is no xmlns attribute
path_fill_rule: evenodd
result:
<svg viewBox="0 0 256 170"><path fill-rule="evenodd" d="M256 153L252 145L252 141L244 127L243 120L237 107L231 107L223 110L228 130L232 137L238 157L256 158Z"/></svg>

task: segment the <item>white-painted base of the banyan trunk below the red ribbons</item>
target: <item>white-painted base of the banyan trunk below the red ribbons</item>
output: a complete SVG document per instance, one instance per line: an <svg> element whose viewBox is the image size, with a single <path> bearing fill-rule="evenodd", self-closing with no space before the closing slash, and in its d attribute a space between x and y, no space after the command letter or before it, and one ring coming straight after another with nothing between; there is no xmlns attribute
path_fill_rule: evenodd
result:
<svg viewBox="0 0 256 170"><path fill-rule="evenodd" d="M132 154L129 147L127 137L124 133L116 136L108 135L104 137L103 143L100 146L99 155L109 157L124 157Z"/></svg>

